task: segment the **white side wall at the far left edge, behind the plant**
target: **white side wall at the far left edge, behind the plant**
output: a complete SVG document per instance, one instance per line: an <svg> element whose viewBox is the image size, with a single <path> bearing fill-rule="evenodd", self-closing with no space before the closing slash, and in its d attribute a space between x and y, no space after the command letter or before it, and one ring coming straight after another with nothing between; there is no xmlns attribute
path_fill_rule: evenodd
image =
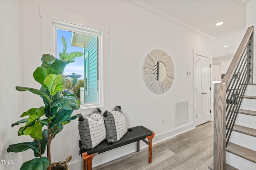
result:
<svg viewBox="0 0 256 170"><path fill-rule="evenodd" d="M21 8L20 0L0 1L0 169L17 170L23 162L22 153L7 153L10 144L19 143L20 127L11 124L20 119L21 93L15 86L22 85L22 43L21 43ZM5 161L5 162L4 162Z"/></svg>

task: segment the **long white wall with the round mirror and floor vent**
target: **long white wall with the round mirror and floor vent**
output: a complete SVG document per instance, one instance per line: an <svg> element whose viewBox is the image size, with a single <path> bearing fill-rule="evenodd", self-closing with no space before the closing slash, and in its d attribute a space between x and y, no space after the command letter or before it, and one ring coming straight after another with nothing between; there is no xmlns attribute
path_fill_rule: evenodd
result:
<svg viewBox="0 0 256 170"><path fill-rule="evenodd" d="M16 74L22 71L22 86L40 88L32 76L36 67L41 64L40 58L42 56L41 34L44 30L41 30L39 4L55 6L56 9L78 14L95 20L95 22L104 21L110 24L109 65L104 65L109 69L109 104L103 109L112 111L114 106L122 106L128 127L144 125L151 129L156 135L153 143L195 127L192 51L197 49L211 54L211 40L122 0L73 0L72 3L68 0L22 0L23 69L16 68L19 66L18 64L13 66L16 68ZM14 18L10 25L17 26L18 21L16 19ZM7 37L5 39L8 40ZM19 44L18 42L15 43L14 47ZM8 45L6 46L8 47ZM9 48L12 49L12 47ZM150 91L142 77L144 58L154 49L166 51L174 63L174 82L171 88L163 94ZM3 71L6 72L8 68L9 66L5 66ZM187 71L191 71L192 74L188 76ZM12 74L14 73L12 72ZM17 80L12 81L9 86L6 85L8 88L18 84ZM38 96L29 92L22 94L22 111L43 104ZM18 94L15 92L15 95ZM15 98L15 100L17 99ZM189 121L174 126L174 102L180 100L189 100ZM90 114L91 109L79 110L78 113ZM165 117L165 123L161 123L162 117ZM12 119L3 122L8 129L7 131L13 130L10 128L10 124L18 119L17 115L12 116ZM13 135L9 135L8 138L15 139ZM31 139L24 138L24 141L29 140ZM65 160L66 157L72 155L73 158L69 163L70 168L82 169L82 159L78 155L78 140L78 122L73 121L65 125L62 133L56 135L52 141L52 161ZM94 158L93 166L133 152L135 146L133 144L111 151L111 153L100 154ZM24 161L32 158L32 152L24 152Z"/></svg>

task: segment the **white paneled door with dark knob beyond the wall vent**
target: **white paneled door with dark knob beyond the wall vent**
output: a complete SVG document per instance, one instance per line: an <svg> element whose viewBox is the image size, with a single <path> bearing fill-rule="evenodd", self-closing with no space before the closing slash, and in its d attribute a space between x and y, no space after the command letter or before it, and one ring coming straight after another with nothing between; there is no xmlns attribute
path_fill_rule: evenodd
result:
<svg viewBox="0 0 256 170"><path fill-rule="evenodd" d="M210 59L195 56L196 126L210 121Z"/></svg>

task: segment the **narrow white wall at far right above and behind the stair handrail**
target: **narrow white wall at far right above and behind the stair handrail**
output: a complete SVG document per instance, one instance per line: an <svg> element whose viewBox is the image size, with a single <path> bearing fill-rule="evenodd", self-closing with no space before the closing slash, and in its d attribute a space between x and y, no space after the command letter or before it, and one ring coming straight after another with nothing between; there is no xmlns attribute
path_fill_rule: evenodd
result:
<svg viewBox="0 0 256 170"><path fill-rule="evenodd" d="M256 0L250 1L246 4L246 27L250 27L254 25L254 69L253 69L253 82L256 83L256 38L255 38L255 30L256 30Z"/></svg>

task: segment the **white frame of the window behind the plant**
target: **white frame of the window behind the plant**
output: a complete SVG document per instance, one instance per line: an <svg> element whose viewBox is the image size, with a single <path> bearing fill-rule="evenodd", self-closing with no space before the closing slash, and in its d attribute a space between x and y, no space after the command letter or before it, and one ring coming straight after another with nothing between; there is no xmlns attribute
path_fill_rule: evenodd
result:
<svg viewBox="0 0 256 170"><path fill-rule="evenodd" d="M94 108L94 107L102 107L103 106L103 57L102 57L102 51L103 51L103 31L84 27L81 25L76 25L64 21L59 20L51 20L52 25L52 54L56 54L56 30L57 29L63 29L66 31L72 31L76 33L86 34L94 37L98 37L98 96L97 102L93 103L82 103L80 105L79 109L87 109L87 108ZM88 80L88 79L87 79ZM88 84L88 83L87 83ZM88 91L87 91L88 93ZM86 94L86 93L85 93Z"/></svg>

